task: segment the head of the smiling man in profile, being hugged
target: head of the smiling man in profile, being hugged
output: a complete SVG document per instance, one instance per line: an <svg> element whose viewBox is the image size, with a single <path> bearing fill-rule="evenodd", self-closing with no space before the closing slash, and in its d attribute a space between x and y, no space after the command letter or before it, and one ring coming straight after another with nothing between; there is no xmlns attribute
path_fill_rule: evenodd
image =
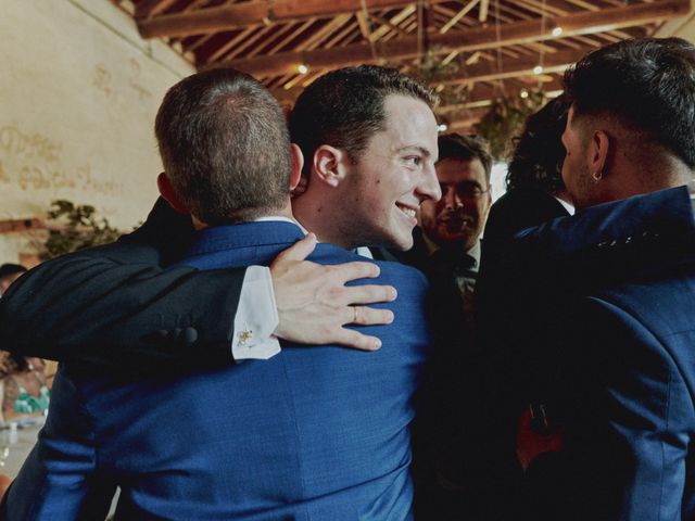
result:
<svg viewBox="0 0 695 521"><path fill-rule="evenodd" d="M420 204L435 201L433 99L394 69L334 71L300 96L290 134L306 191L292 202L320 241L408 250Z"/></svg>

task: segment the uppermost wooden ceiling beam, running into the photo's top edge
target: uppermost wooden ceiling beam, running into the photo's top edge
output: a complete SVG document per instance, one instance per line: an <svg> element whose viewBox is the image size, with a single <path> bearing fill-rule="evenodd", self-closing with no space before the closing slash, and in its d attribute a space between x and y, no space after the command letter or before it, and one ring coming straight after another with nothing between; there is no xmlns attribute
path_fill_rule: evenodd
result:
<svg viewBox="0 0 695 521"><path fill-rule="evenodd" d="M439 3L446 0L429 0ZM367 0L369 10L408 5L408 0ZM191 36L235 30L248 25L330 17L363 10L362 0L262 0L138 18L142 38Z"/></svg>

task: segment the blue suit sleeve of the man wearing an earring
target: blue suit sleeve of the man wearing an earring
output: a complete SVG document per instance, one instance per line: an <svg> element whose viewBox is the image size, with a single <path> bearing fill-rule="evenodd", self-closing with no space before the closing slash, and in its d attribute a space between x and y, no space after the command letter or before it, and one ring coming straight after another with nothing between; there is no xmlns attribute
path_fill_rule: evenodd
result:
<svg viewBox="0 0 695 521"><path fill-rule="evenodd" d="M606 301L585 298L574 322L565 448L534 482L563 513L549 519L680 519L695 411L678 364Z"/></svg>

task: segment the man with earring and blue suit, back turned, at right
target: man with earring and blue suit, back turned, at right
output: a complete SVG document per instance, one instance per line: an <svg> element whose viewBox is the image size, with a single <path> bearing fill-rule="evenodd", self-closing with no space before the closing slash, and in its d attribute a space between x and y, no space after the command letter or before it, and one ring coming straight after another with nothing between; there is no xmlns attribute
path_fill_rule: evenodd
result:
<svg viewBox="0 0 695 521"><path fill-rule="evenodd" d="M517 414L542 405L519 421L517 517L695 519L695 46L610 45L565 85L579 212L518 238L493 294L508 329L488 330Z"/></svg>

